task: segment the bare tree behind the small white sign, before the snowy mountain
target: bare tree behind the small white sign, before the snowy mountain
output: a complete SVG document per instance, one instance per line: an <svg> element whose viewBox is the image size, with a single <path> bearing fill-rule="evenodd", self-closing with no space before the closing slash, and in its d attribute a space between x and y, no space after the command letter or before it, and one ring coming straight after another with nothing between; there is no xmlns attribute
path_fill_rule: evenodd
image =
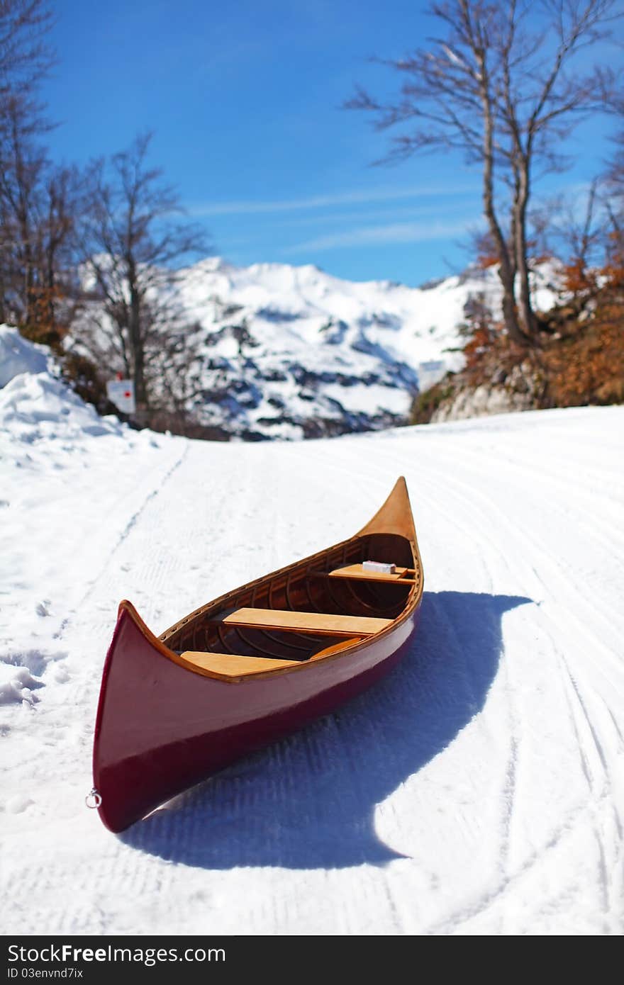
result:
<svg viewBox="0 0 624 985"><path fill-rule="evenodd" d="M79 231L84 274L104 310L92 351L134 380L139 419L157 384L152 368L160 354L173 337L179 350L184 313L176 267L207 250L203 230L175 218L182 211L177 195L148 163L151 139L140 135L91 166Z"/></svg>

